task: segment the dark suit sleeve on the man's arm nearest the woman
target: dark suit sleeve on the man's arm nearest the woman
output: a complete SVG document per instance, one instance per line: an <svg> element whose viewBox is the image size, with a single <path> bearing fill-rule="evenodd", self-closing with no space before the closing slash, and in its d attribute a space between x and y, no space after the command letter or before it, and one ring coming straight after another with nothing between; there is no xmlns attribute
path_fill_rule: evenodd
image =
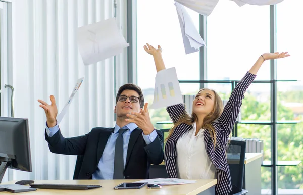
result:
<svg viewBox="0 0 303 195"><path fill-rule="evenodd" d="M163 162L163 133L160 130L156 130L158 136L156 139L148 145L145 145L144 149L147 153L147 159L151 164L159 165Z"/></svg>

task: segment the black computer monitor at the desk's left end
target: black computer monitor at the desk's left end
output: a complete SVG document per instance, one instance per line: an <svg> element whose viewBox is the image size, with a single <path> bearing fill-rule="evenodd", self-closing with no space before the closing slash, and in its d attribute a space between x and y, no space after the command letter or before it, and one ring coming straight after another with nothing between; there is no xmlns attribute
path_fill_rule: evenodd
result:
<svg viewBox="0 0 303 195"><path fill-rule="evenodd" d="M28 119L0 117L0 183L7 168L32 171Z"/></svg>

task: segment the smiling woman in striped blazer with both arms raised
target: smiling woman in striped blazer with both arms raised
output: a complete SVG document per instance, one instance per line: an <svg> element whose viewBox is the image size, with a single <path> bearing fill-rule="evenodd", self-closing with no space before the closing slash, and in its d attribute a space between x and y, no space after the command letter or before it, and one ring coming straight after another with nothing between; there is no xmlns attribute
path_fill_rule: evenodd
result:
<svg viewBox="0 0 303 195"><path fill-rule="evenodd" d="M159 45L154 48L147 44L144 50L153 55L157 72L165 69ZM232 190L226 149L244 93L265 60L287 56L287 52L261 55L234 88L224 109L218 93L207 88L196 94L191 116L186 113L183 104L167 107L174 123L169 131L164 155L170 178L217 178L216 194L228 194Z"/></svg>

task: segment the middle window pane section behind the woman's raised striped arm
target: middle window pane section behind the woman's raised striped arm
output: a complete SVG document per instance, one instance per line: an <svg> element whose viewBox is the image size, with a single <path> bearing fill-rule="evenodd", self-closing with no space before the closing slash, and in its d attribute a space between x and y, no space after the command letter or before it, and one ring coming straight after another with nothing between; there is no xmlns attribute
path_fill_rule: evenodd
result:
<svg viewBox="0 0 303 195"><path fill-rule="evenodd" d="M269 13L269 6L239 7L233 1L219 1L207 17L208 80L240 80L261 54L270 52ZM270 80L268 61L260 68L256 80ZM225 93L226 90L230 88L226 87ZM269 83L249 86L241 107L241 120L270 120ZM270 130L268 125L238 124L238 136L264 140L264 160L271 160ZM269 175L270 169L262 169L263 189L271 189Z"/></svg>

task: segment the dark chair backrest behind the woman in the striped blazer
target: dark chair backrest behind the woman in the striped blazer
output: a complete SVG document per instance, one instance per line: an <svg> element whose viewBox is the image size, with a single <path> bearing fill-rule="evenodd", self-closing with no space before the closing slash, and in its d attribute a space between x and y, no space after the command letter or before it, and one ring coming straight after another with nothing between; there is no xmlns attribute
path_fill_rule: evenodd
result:
<svg viewBox="0 0 303 195"><path fill-rule="evenodd" d="M244 177L246 142L230 140L227 147L227 162L230 169L232 191L235 194L242 191Z"/></svg>

